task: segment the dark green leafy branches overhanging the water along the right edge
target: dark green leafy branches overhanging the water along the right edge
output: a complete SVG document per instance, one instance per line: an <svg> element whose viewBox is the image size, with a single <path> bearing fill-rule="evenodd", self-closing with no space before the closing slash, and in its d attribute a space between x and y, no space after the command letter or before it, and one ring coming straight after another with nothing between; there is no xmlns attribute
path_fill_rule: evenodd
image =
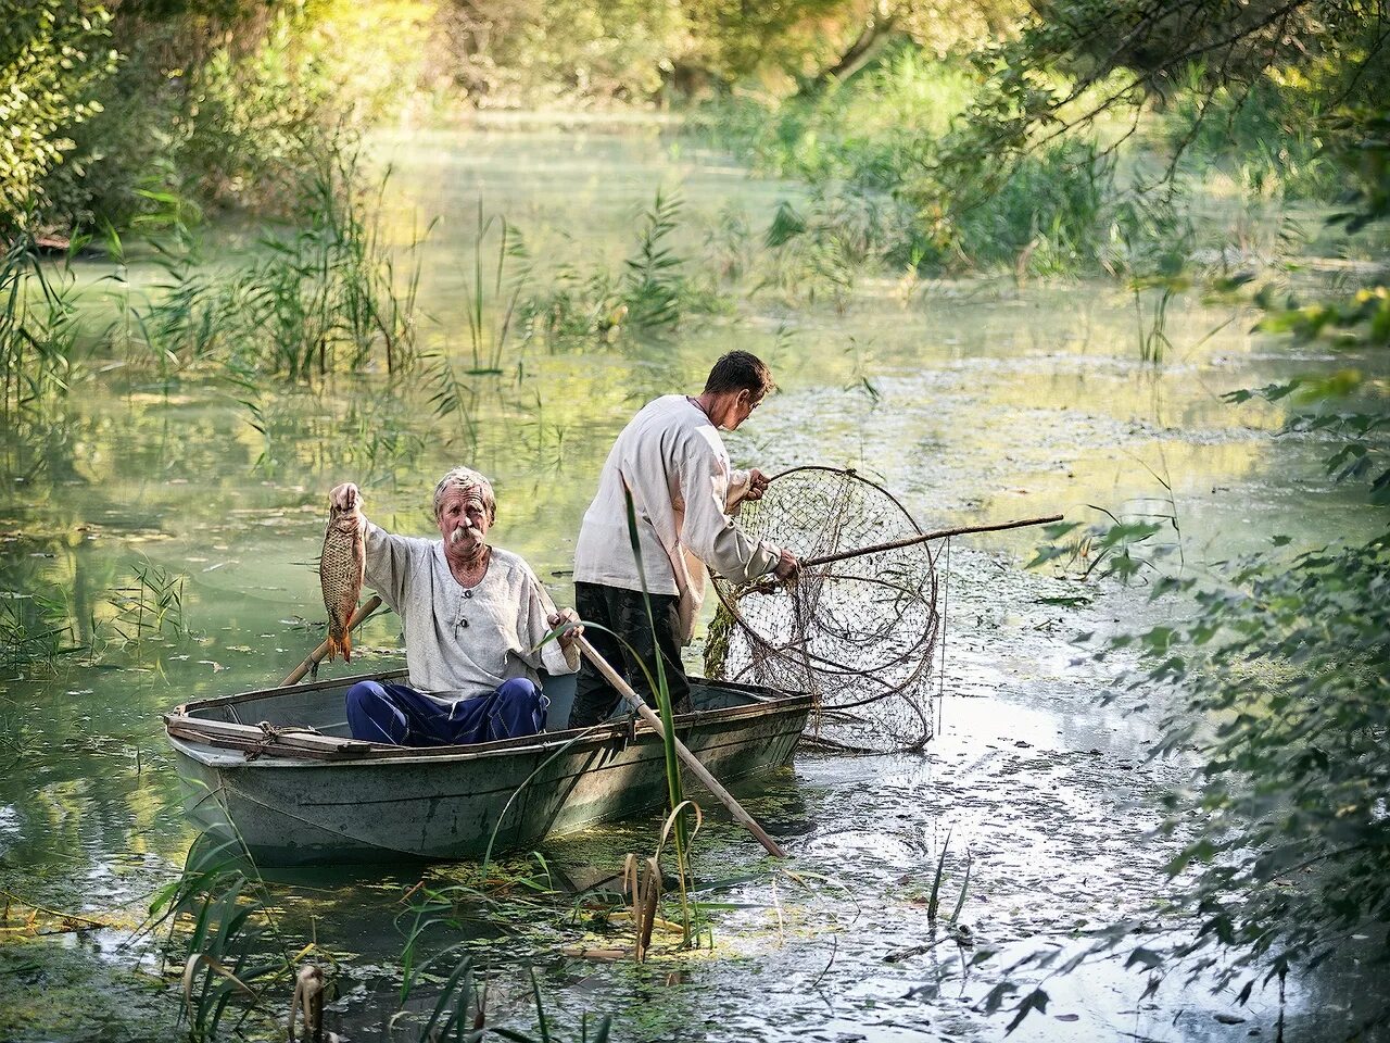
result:
<svg viewBox="0 0 1390 1043"><path fill-rule="evenodd" d="M1304 21L1307 14L1275 11L1223 28L1227 64L1209 74L1205 104L1216 106L1233 83L1248 97L1262 86L1259 72L1287 61L1289 46L1334 60L1320 68L1314 63L1311 79L1320 78L1320 89L1332 86L1346 100L1358 83L1369 83L1383 104L1384 35L1368 35L1372 29L1361 22ZM1334 7L1322 14L1354 13ZM1201 47L1202 39L1169 43L1158 68L1170 70L1183 47ZM1069 46L1074 50L1076 43ZM1151 88L1154 72L1131 79L1130 89ZM1056 96L1051 97L1024 122L1045 125L1055 118ZM1294 142L1294 159L1302 156L1323 170L1309 185L1308 167L1291 161L1293 177L1282 185L1293 193L1336 184L1341 209L1329 224L1348 236L1348 252L1364 248L1365 241L1352 239L1358 234L1375 241L1379 223L1390 216L1384 125L1386 110L1376 106L1348 106L1325 117L1316 156ZM1009 138L1006 120L984 118L976 128L981 140L992 135L995 143L1026 147L1017 129ZM1169 174L1182 159L1175 157ZM1250 161L1258 170L1261 153ZM1151 579L1155 597L1186 595L1195 606L1179 623L1112 637L1099 652L1138 648L1144 672L1130 677L1133 687L1154 691L1172 706L1154 755L1195 751L1202 765L1190 787L1169 798L1168 830L1194 832L1169 865L1173 887L1163 914L1170 926L1158 943L1145 939L1136 947L1130 961L1150 971L1215 972L1222 985L1238 989L1243 1001L1257 987L1277 980L1282 989L1290 975L1348 951L1373 962L1390 960L1384 947L1390 907L1376 868L1390 852L1380 807L1387 779L1384 758L1375 752L1390 727L1390 629L1383 616L1390 577L1390 396L1377 375L1390 348L1390 312L1383 248L1372 248L1372 254L1379 261L1368 268L1371 278L1350 295L1329 298L1323 291L1308 302L1286 282L1266 281L1254 296L1266 313L1259 330L1319 343L1346 357L1344 367L1227 396L1233 406L1255 398L1293 401L1283 434L1318 431L1330 438L1334 451L1326 471L1334 483L1364 487L1371 540L1348 534L1352 538L1326 545L1289 547L1287 537L1276 535L1273 551L1193 574L1172 559L1182 549L1176 519L1172 528L1126 520L1094 526L1038 558L1038 563L1059 555L1074 560L1097 547L1123 547L1105 569ZM1244 281L1254 277L1219 285L1229 292ZM1116 939L1133 944L1143 935L1152 936L1152 925L1119 928L1093 951ZM1045 1003L1045 993L1034 990L1019 1010ZM1358 1032L1387 1017L1390 1011L1377 1004Z"/></svg>

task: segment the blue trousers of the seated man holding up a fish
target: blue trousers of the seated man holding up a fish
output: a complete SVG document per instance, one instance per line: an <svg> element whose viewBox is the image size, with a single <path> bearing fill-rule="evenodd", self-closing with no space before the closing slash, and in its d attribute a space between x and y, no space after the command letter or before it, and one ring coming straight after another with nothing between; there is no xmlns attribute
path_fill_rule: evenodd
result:
<svg viewBox="0 0 1390 1043"><path fill-rule="evenodd" d="M353 738L392 745L463 745L534 736L545 727L549 700L534 681L513 677L488 695L460 700L450 711L406 684L359 681L348 690Z"/></svg>

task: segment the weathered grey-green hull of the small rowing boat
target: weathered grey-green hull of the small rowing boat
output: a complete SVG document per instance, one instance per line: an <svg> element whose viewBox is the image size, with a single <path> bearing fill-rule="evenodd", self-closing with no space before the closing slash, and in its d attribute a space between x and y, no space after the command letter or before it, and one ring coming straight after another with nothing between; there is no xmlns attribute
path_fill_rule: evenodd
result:
<svg viewBox="0 0 1390 1043"><path fill-rule="evenodd" d="M346 683L324 700L341 698ZM746 779L791 759L808 697L695 687L696 706L701 697L733 704L677 720L677 734L717 779ZM199 709L178 718L190 727L170 727L179 770L197 783L197 815L214 829L235 827L264 865L480 858L666 802L662 740L626 720L478 747L313 759L199 741L190 737Z"/></svg>

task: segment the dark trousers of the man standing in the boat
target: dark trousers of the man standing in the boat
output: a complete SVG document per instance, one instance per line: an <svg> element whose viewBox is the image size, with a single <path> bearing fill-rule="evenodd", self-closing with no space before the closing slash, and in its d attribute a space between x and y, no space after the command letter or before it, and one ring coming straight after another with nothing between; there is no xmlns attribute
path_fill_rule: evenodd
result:
<svg viewBox="0 0 1390 1043"><path fill-rule="evenodd" d="M605 587L598 583L574 584L574 611L585 623L598 623L613 634L598 627L588 627L584 636L613 669L627 677L637 694L656 706L656 695L646 680L648 673L656 679L656 652L660 649L666 668L666 690L671 694L671 708L677 713L691 709L691 684L681 666L681 619L680 598L674 594L649 594L652 622L646 616L642 591L621 587ZM619 637L623 638L619 641ZM644 669L645 666L645 669ZM595 669L588 659L580 666L578 687L574 693L574 708L570 711L570 727L588 727L605 720L617 708L621 697Z"/></svg>

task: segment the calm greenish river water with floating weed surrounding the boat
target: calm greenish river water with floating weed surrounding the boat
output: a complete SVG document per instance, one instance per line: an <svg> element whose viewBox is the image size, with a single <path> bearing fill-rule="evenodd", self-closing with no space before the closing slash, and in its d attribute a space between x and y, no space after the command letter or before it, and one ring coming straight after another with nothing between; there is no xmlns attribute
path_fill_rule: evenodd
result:
<svg viewBox="0 0 1390 1043"><path fill-rule="evenodd" d="M1161 538L1180 540L1184 567L1202 574L1276 534L1307 545L1371 524L1329 491L1325 446L1275 437L1282 413L1270 406L1222 402L1341 364L1252 335L1248 313L1179 299L1172 348L1151 363L1140 359L1133 298L1113 284L862 277L815 300L795 280L759 288L734 268L764 263L762 231L799 189L651 128L439 131L384 138L375 154L395 164L392 238L409 242L439 217L420 248L430 350L467 357L480 200L525 234L545 281L567 264L617 266L657 188L678 191L677 248L692 274L733 271L730 303L662 338L556 349L517 337L503 373L473 381L471 427L435 423L424 387L364 375L313 392L265 389L259 430L217 374L161 381L97 360L42 423L6 431L0 587L65 602L92 651L51 674L0 681L0 890L15 908L103 926L29 937L15 915L6 919L0 1039L177 1032L179 968L158 978L157 944L132 940L195 837L158 715L274 683L318 642L313 563L336 481L363 485L375 522L428 534L434 481L459 463L478 467L498 491L493 541L569 602L574 534L613 437L648 398L696 392L710 362L737 346L763 355L781 385L727 439L737 464L858 467L924 527L1054 512L1098 520L1088 505L1170 517ZM240 248L229 235L225 249ZM93 261L85 273L92 295L106 271ZM156 280L153 268L132 270L138 288ZM998 1039L1008 1018L983 1012L983 1000L1011 962L1072 951L1087 929L1144 915L1175 850L1154 836L1156 798L1191 765L1145 761L1163 706L1136 709L1148 700L1140 694L1102 706L1113 668L1072 637L1182 606L1150 604L1143 585L1024 572L1036 542L1036 533L955 541L942 570L938 734L924 754L808 750L735 790L781 837L788 864L763 858L706 801L694 868L712 903L712 947L646 965L588 960L575 953L602 948L603 933L585 915L553 911L478 909L461 928L431 932L431 946L470 941L489 983L489 1024L537 1032L530 967L563 1039L580 1039L584 1017L592 1032L600 1015L623 1040ZM133 638L136 622L110 602L138 569L179 591L182 633L122 638L118 627ZM391 619L368 623L361 665L396 662L396 637ZM657 830L656 818L626 822L541 855L557 887L581 887L616 875L627 852L651 852ZM959 900L954 930L944 915L940 926L927 918L942 848L944 909ZM516 875L538 866L503 864ZM470 872L267 875L291 951L313 939L338 961L329 1028L352 1040L416 1037L410 1017L388 1026L404 896L421 879L446 887ZM977 964L986 950L995 955ZM1343 1039L1352 997L1384 987L1348 965L1291 983L1283 1004L1270 986L1237 1005L1182 972L1141 997L1147 978L1123 962L1097 957L1051 978L1047 1010L1013 1039ZM1026 990L1040 975L1013 978ZM282 1018L288 996L268 1007ZM407 1007L418 1014L432 998Z"/></svg>

